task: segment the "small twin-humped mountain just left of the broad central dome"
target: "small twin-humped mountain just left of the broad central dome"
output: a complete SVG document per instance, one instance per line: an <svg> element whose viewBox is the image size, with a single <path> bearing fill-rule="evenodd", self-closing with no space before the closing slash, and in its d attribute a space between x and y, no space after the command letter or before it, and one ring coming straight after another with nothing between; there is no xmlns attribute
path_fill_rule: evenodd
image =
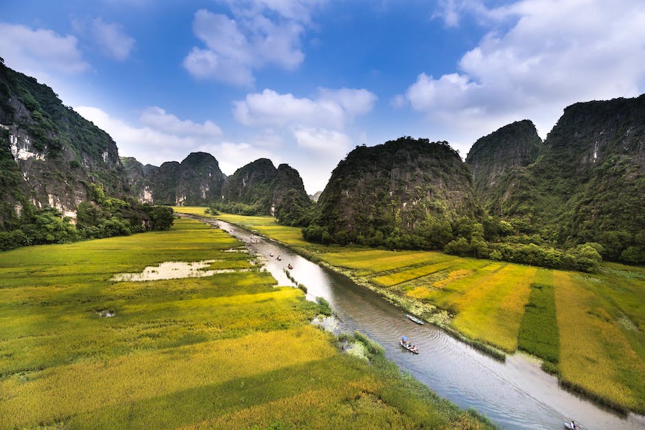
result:
<svg viewBox="0 0 645 430"><path fill-rule="evenodd" d="M248 215L274 215L279 222L305 225L312 201L296 169L259 158L240 167L222 187L222 200L215 207Z"/></svg>

